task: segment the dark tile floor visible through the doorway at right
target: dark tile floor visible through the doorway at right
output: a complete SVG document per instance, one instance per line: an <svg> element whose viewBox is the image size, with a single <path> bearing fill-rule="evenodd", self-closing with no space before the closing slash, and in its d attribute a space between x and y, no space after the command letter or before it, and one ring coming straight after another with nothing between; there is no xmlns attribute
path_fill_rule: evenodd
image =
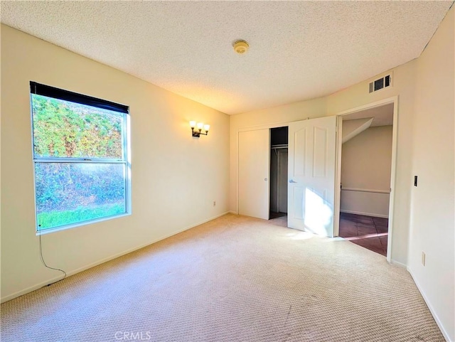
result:
<svg viewBox="0 0 455 342"><path fill-rule="evenodd" d="M340 236L356 245L387 255L389 220L365 215L340 213Z"/></svg>

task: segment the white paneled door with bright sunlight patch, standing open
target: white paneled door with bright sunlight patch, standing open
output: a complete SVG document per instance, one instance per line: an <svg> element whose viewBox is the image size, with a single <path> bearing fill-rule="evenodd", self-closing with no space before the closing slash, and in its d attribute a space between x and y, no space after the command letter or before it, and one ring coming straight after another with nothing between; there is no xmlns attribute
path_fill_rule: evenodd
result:
<svg viewBox="0 0 455 342"><path fill-rule="evenodd" d="M336 117L289 124L289 228L333 236Z"/></svg>

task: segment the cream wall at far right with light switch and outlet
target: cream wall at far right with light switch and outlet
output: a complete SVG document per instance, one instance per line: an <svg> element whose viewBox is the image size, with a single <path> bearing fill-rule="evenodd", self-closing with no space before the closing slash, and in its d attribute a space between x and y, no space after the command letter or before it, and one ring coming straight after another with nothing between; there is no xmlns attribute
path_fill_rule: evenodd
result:
<svg viewBox="0 0 455 342"><path fill-rule="evenodd" d="M446 338L455 341L454 16L417 60L408 268ZM426 266L422 265L426 253Z"/></svg>

